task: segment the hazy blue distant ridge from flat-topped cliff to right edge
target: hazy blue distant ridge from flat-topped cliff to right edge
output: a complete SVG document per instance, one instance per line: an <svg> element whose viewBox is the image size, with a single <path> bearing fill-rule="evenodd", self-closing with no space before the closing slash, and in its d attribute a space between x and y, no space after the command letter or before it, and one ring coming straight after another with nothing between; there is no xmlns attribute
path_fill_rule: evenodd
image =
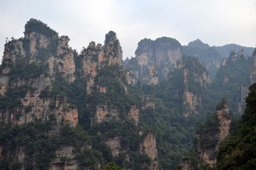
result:
<svg viewBox="0 0 256 170"><path fill-rule="evenodd" d="M162 37L156 40L145 38L138 43L135 57L124 61L124 67L134 72L136 81L156 84L166 79L168 71L172 71L176 67L176 62L182 55L194 55L200 61L205 62L210 80L214 81L223 58L227 59L230 51L239 52L239 50L243 50L245 57L250 57L253 49L252 47L234 44L209 46L200 39L181 46L179 41L173 38Z"/></svg>

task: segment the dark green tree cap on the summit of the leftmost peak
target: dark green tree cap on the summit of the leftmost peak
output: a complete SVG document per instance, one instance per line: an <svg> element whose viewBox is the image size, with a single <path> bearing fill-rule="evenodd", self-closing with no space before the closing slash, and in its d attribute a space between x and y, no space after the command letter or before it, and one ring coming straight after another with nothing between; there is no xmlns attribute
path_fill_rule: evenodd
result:
<svg viewBox="0 0 256 170"><path fill-rule="evenodd" d="M50 27L44 24L40 20L31 19L25 25L25 32L33 32L44 34L47 37L58 35L56 31L53 31Z"/></svg>

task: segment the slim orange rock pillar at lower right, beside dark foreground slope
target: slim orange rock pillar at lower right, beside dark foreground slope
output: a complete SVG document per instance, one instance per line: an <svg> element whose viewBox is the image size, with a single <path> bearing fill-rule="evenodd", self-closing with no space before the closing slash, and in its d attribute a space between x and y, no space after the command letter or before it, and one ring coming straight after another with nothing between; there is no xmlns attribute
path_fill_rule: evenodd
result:
<svg viewBox="0 0 256 170"><path fill-rule="evenodd" d="M232 122L232 116L230 115L230 110L227 103L221 103L220 107L216 111L216 121L218 122L220 131L208 134L197 134L198 145L196 146L197 152L200 157L202 157L207 164L214 166L217 162L216 156L218 153L218 148L220 142L229 134L230 124ZM209 146L207 148L200 145L200 139L210 138L216 141L214 146Z"/></svg>

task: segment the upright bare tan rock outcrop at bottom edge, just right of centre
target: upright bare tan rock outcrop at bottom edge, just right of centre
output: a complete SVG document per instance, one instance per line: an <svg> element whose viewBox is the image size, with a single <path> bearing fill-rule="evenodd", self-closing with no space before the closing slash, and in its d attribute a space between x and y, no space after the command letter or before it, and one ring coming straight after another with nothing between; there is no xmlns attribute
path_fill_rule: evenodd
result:
<svg viewBox="0 0 256 170"><path fill-rule="evenodd" d="M156 148L156 138L152 133L148 133L145 139L143 140L143 144L140 146L140 152L145 153L151 159L150 170L158 169L157 158L157 148Z"/></svg>

